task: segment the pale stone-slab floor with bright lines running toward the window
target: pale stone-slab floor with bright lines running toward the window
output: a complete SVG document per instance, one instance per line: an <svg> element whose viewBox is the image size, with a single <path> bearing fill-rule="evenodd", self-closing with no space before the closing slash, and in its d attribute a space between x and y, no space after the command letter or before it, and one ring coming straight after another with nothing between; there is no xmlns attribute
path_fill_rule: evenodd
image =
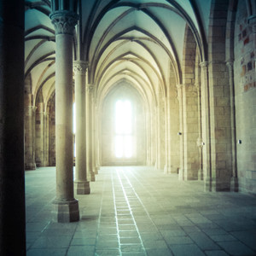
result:
<svg viewBox="0 0 256 256"><path fill-rule="evenodd" d="M256 198L148 167L103 167L77 223L51 221L55 168L26 172L27 255L256 255Z"/></svg>

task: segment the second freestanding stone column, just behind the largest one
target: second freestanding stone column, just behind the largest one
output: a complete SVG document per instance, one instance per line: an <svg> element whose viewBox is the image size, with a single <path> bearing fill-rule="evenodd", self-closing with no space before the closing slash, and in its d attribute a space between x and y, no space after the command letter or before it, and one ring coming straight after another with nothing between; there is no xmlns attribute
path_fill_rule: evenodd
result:
<svg viewBox="0 0 256 256"><path fill-rule="evenodd" d="M78 195L90 194L90 183L86 173L86 115L85 115L85 74L87 62L75 61L75 104L76 104L76 172L75 191Z"/></svg>

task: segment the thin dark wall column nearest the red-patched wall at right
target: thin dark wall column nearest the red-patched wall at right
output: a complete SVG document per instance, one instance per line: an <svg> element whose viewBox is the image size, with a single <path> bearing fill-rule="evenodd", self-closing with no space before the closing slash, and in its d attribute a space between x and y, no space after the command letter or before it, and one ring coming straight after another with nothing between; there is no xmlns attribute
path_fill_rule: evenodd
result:
<svg viewBox="0 0 256 256"><path fill-rule="evenodd" d="M238 192L238 177L236 166L236 105L235 105L235 84L234 84L234 61L227 61L230 81L230 119L231 119L231 157L232 157L232 177L230 180L230 190Z"/></svg>

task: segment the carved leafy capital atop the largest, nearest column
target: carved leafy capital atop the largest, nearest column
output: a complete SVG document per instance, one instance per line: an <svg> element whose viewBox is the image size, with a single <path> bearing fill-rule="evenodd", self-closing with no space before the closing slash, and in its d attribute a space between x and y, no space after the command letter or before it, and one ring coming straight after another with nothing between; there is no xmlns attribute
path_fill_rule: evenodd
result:
<svg viewBox="0 0 256 256"><path fill-rule="evenodd" d="M58 10L51 13L49 18L55 26L55 35L73 35L73 29L79 20L79 15L67 10Z"/></svg>

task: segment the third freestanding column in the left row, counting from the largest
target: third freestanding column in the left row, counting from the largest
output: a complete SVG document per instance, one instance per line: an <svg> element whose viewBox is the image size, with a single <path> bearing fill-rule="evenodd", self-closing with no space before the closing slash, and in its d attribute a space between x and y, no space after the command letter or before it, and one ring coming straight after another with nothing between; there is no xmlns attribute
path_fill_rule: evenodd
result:
<svg viewBox="0 0 256 256"><path fill-rule="evenodd" d="M95 173L93 166L93 145L92 145L92 97L93 97L94 85L88 84L86 90L86 147L87 147L87 168L90 173L90 181L95 181Z"/></svg>

